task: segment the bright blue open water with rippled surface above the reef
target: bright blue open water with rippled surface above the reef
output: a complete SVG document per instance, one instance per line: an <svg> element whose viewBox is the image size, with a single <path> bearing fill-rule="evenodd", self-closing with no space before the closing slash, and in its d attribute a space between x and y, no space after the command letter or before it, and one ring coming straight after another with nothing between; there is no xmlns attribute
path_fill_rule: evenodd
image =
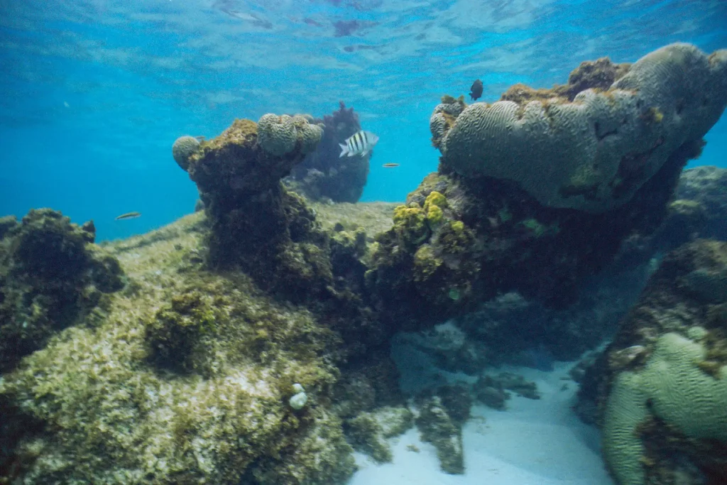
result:
<svg viewBox="0 0 727 485"><path fill-rule="evenodd" d="M194 207L176 137L339 100L381 137L362 200L401 201L436 169L441 95L479 78L495 100L673 41L727 47L727 1L0 0L0 215L53 207L99 239L148 231ZM695 163L727 167L725 116L707 141ZM129 211L142 217L113 220Z"/></svg>

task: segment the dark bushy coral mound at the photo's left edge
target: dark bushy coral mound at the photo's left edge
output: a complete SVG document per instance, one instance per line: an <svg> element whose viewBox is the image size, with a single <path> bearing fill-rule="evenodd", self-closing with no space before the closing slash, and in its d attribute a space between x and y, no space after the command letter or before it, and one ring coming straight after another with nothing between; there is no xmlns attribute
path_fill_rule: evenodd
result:
<svg viewBox="0 0 727 485"><path fill-rule="evenodd" d="M116 258L82 227L51 209L31 209L17 223L3 217L0 239L0 372L43 348L55 332L91 313L124 286Z"/></svg>

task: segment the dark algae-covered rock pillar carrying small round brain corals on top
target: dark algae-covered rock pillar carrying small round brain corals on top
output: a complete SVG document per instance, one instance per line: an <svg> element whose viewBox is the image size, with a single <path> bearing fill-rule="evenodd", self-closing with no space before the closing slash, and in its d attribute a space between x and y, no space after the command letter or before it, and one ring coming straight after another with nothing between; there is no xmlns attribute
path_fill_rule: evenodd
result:
<svg viewBox="0 0 727 485"><path fill-rule="evenodd" d="M288 124L297 133L289 116L270 129L278 132ZM190 177L212 222L209 262L217 268L240 267L261 284L302 295L301 288L320 288L330 279L329 262L321 254L325 238L305 202L281 185L302 160L302 148L273 156L260 148L261 129L253 121L236 120L190 159Z"/></svg>

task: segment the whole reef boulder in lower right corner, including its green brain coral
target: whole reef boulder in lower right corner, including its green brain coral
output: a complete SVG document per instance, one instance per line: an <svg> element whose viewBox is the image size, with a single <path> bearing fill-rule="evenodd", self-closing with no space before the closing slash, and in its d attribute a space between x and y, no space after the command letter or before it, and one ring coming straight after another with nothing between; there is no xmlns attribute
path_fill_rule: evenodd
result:
<svg viewBox="0 0 727 485"><path fill-rule="evenodd" d="M688 483L725 478L727 292L713 290L726 270L726 242L700 240L667 254L585 374L579 397L595 401L620 484L675 483L685 464L695 476ZM703 291L705 281L717 286Z"/></svg>

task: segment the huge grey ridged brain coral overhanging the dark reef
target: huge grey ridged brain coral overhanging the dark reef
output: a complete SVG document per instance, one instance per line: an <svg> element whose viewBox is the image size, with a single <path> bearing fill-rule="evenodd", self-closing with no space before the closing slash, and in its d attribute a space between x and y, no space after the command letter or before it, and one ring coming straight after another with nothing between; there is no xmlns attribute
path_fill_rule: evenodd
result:
<svg viewBox="0 0 727 485"><path fill-rule="evenodd" d="M605 91L474 103L454 122L456 111L439 105L430 126L442 161L461 175L514 180L550 207L603 212L699 140L726 103L727 49L707 56L671 44Z"/></svg>

